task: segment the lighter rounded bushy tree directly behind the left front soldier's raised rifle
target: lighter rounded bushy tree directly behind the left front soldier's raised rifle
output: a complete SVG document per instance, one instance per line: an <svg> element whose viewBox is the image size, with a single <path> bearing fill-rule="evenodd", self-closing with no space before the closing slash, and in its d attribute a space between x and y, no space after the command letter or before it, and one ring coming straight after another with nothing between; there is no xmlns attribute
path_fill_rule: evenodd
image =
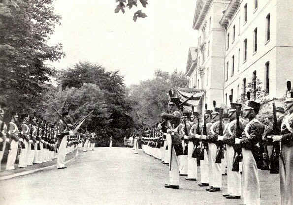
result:
<svg viewBox="0 0 293 205"><path fill-rule="evenodd" d="M50 122L59 121L53 107L61 113L65 102L70 109L69 115L72 117L73 123L94 110L91 117L87 118L82 125L84 130L97 132L101 127L107 126L111 122L111 113L104 101L104 93L95 84L83 84L80 88L66 88L65 90L59 88L54 97L49 98L44 104L45 112L42 115L44 119Z"/></svg>

